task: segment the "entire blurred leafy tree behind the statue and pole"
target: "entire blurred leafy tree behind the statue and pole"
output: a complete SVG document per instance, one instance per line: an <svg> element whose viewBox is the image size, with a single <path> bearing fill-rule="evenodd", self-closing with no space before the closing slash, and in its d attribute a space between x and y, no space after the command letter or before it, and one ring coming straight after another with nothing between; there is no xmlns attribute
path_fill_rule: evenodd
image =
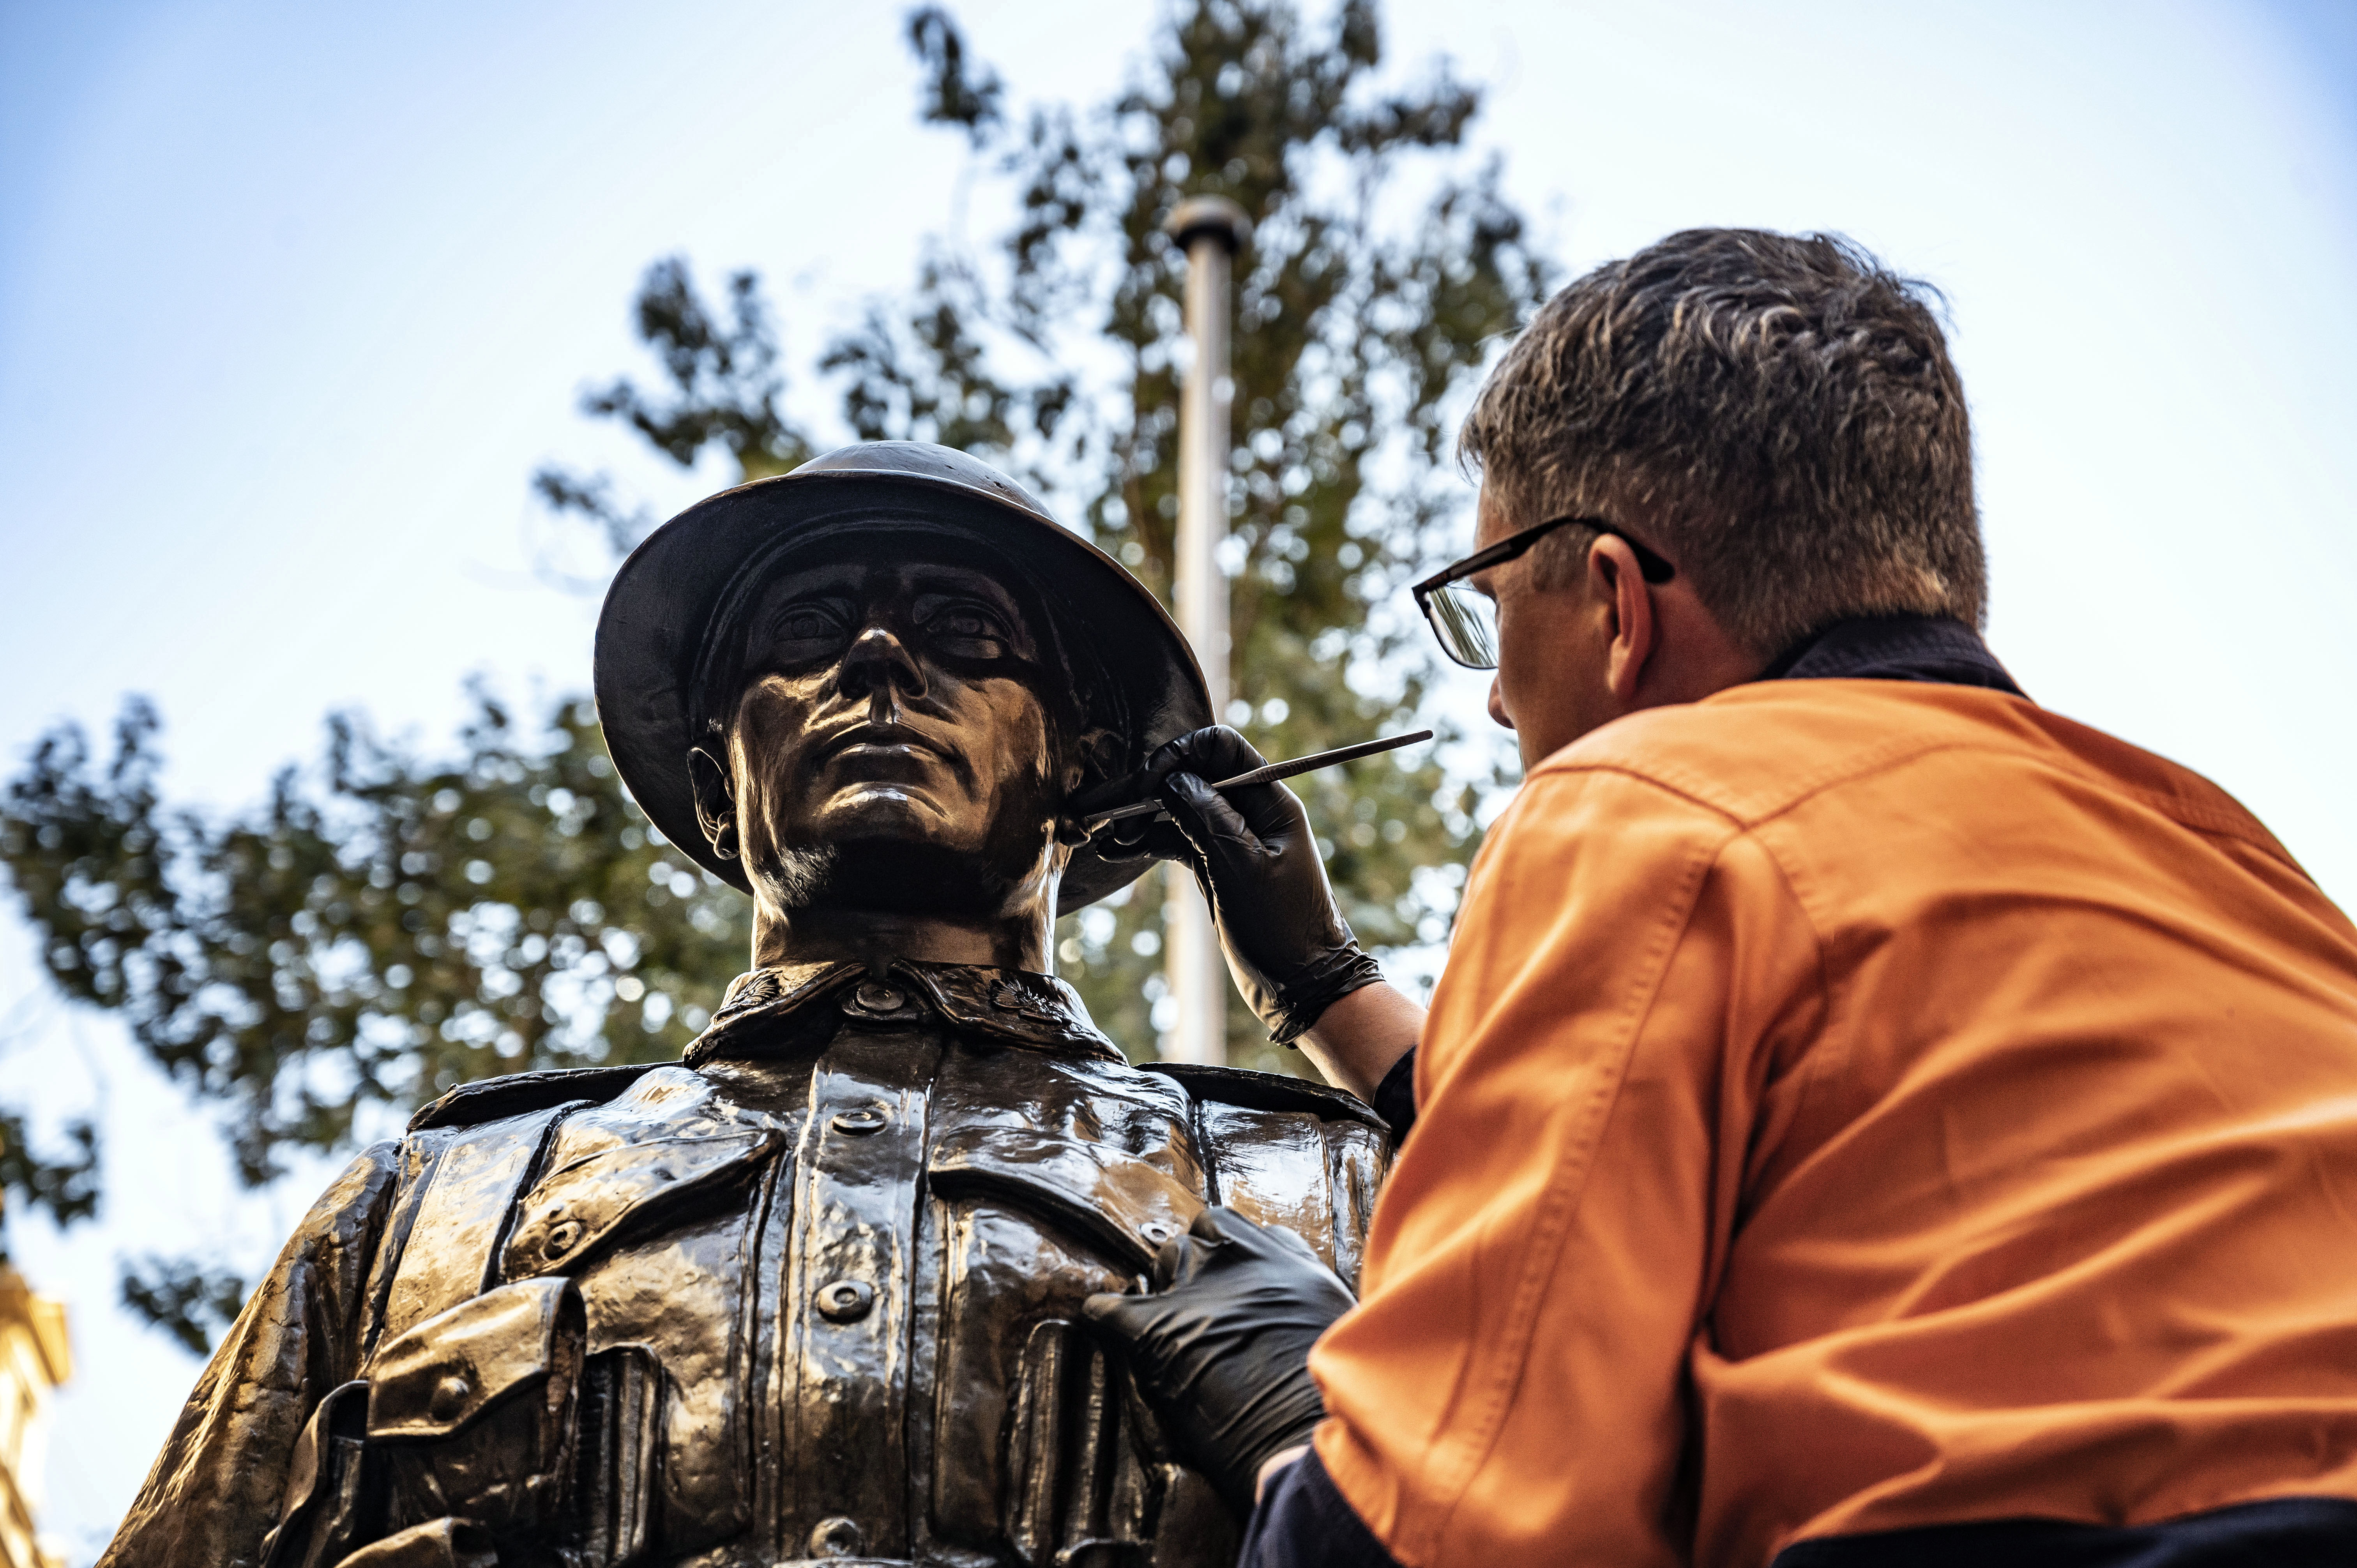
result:
<svg viewBox="0 0 2357 1568"><path fill-rule="evenodd" d="M849 434L999 462L1167 592L1186 262L1160 229L1186 196L1228 196L1254 217L1235 290L1230 717L1270 755L1419 719L1433 655L1398 589L1461 545L1452 398L1549 281L1497 163L1466 165L1478 92L1445 66L1384 90L1367 0L1315 28L1275 0L1190 0L1129 90L1021 118L945 12L915 12L907 40L919 113L964 137L1011 219L983 250L931 243L907 295L825 344L816 370ZM754 274L712 309L686 262L658 262L636 314L660 389L615 380L585 413L681 467L717 446L747 479L818 450L785 413ZM606 476L535 486L615 552L653 523ZM0 856L52 979L222 1103L238 1170L262 1181L280 1151L339 1146L467 1078L672 1056L742 967L742 898L620 792L587 703L526 729L481 698L460 755L436 762L342 714L316 769L207 823L160 802L158 722L132 703L104 769L75 731L40 743L0 804ZM1393 755L1301 783L1362 938L1438 938L1485 780ZM1063 971L1141 1054L1155 887L1058 929ZM1230 1052L1287 1066L1242 1007ZM54 1172L71 1162L0 1162L0 1181L66 1219L82 1188ZM236 1297L186 1259L125 1273L125 1299L191 1344Z"/></svg>

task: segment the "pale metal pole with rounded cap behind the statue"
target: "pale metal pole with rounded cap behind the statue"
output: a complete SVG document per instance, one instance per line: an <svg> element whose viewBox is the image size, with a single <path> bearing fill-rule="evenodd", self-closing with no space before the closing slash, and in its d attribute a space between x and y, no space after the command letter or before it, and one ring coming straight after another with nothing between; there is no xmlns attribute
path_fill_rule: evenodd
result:
<svg viewBox="0 0 2357 1568"><path fill-rule="evenodd" d="M1228 578L1219 568L1219 545L1228 538L1228 262L1249 224L1244 210L1223 196L1178 203L1164 224L1186 250L1186 330L1195 342L1178 398L1178 630L1195 644L1211 712L1228 712ZM1169 1061L1228 1059L1228 964L1219 955L1211 910L1195 891L1195 877L1169 868L1162 905L1169 943L1169 988L1178 1019L1162 1042Z"/></svg>

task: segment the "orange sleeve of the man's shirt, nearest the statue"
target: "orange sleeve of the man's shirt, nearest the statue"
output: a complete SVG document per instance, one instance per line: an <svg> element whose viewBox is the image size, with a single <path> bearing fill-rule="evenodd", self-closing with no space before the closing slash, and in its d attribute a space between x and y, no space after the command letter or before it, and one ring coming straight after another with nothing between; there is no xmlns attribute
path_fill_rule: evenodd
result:
<svg viewBox="0 0 2357 1568"><path fill-rule="evenodd" d="M1336 1493L1407 1568L1685 1559L1685 1365L1815 936L1737 821L1541 769L1466 889L1376 1207L1310 1368Z"/></svg>

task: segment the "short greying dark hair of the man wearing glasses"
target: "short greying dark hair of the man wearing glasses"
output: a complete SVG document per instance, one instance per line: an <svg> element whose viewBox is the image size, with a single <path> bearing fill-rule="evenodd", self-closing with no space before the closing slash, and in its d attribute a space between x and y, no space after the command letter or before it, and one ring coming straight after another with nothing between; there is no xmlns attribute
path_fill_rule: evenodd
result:
<svg viewBox="0 0 2357 1568"><path fill-rule="evenodd" d="M1688 229L1549 299L1457 453L1516 528L1626 523L1763 658L1855 615L1978 627L1973 429L1937 299L1841 236ZM1591 540L1544 540L1541 585Z"/></svg>

